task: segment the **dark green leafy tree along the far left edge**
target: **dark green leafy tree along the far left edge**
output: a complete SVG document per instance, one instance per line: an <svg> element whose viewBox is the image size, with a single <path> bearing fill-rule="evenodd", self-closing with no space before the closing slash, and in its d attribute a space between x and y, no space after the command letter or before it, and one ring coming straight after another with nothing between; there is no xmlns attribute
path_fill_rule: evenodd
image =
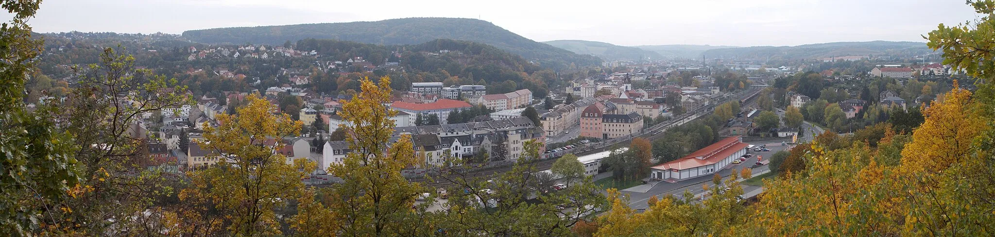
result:
<svg viewBox="0 0 995 237"><path fill-rule="evenodd" d="M70 134L55 129L47 107L26 110L24 100L28 72L42 47L31 38L27 20L35 15L41 1L4 2L13 13L0 31L0 230L12 236L30 236L43 227L38 223L57 222L43 215L50 206L87 191L79 183L86 178L82 163L73 157ZM10 15L8 15L10 16ZM68 195L67 195L68 194ZM54 207L54 206L52 206ZM68 227L68 226L67 226ZM56 227L56 228L67 228ZM49 228L49 227L45 227Z"/></svg>

